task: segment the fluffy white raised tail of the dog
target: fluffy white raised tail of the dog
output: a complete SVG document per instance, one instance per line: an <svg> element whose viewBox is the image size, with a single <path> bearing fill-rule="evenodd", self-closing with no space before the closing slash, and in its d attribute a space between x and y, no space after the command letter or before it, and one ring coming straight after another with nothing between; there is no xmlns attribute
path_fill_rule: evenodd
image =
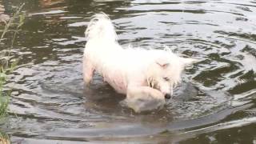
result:
<svg viewBox="0 0 256 144"><path fill-rule="evenodd" d="M87 41L97 39L117 42L118 40L114 25L104 13L94 14L87 26L85 34Z"/></svg>

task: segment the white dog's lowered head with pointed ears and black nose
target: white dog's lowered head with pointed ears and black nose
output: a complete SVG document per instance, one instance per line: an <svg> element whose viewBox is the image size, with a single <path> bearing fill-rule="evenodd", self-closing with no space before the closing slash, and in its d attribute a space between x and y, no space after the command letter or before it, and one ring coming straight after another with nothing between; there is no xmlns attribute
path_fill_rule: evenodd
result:
<svg viewBox="0 0 256 144"><path fill-rule="evenodd" d="M171 98L173 89L181 81L182 71L194 62L198 60L178 57L173 53L155 58L147 70L148 86L160 90L166 98Z"/></svg>

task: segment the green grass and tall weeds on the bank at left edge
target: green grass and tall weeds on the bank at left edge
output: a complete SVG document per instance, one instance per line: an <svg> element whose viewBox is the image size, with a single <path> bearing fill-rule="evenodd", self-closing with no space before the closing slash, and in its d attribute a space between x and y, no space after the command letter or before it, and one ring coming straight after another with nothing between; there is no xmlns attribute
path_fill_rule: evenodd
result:
<svg viewBox="0 0 256 144"><path fill-rule="evenodd" d="M0 53L0 119L6 117L8 104L10 102L10 91L6 91L4 89L6 84L6 78L8 74L10 74L18 64L17 59L10 59L10 54L14 46L16 35L18 34L20 27L24 23L25 13L22 13L21 11L23 6L24 4L22 4L22 6L19 6L14 15L10 18L10 20L8 22L5 22L5 26L2 30L0 38L0 44L2 44L2 42L5 40L7 40L7 42L8 40L10 40L9 46L5 43L5 46L7 46L6 50L2 50ZM10 39L6 39L6 34L8 33L10 33ZM2 138L1 135L0 138Z"/></svg>

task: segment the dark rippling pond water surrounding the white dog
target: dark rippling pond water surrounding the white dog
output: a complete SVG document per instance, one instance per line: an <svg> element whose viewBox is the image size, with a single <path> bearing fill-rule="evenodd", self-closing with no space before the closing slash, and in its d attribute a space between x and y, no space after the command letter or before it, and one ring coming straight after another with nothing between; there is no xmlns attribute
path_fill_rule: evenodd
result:
<svg viewBox="0 0 256 144"><path fill-rule="evenodd" d="M1 125L13 143L256 143L255 0L0 2L7 14L26 3L10 118ZM134 114L99 76L84 89L84 30L100 11L124 46L170 46L201 59L163 110Z"/></svg>

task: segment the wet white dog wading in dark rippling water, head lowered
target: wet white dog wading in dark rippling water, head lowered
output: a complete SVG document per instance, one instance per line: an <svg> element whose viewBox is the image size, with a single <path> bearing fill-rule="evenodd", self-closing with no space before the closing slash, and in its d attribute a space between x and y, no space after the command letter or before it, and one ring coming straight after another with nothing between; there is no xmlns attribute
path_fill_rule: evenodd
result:
<svg viewBox="0 0 256 144"><path fill-rule="evenodd" d="M123 49L106 14L95 14L86 29L83 78L89 86L96 70L136 112L158 109L181 81L182 70L196 60L170 50Z"/></svg>

